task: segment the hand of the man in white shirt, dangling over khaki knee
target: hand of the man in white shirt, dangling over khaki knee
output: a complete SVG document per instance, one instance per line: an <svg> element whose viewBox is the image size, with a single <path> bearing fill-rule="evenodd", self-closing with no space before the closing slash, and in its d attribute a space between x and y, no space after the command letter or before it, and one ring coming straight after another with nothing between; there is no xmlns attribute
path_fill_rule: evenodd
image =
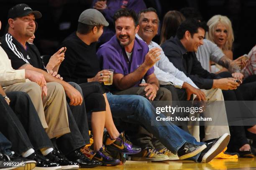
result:
<svg viewBox="0 0 256 170"><path fill-rule="evenodd" d="M197 95L197 100L199 101L206 101L206 96L203 91L200 89L196 89L195 87L191 86L190 84L184 82L182 85L182 89L185 89L187 92L187 100L190 99L191 94L196 94Z"/></svg>

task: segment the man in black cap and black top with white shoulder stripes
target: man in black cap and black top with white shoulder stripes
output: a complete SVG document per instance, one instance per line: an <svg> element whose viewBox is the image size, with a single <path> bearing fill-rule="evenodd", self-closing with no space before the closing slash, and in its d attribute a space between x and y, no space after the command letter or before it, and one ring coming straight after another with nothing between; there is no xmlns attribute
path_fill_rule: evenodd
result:
<svg viewBox="0 0 256 170"><path fill-rule="evenodd" d="M39 17L38 13L38 11L32 11L26 4L18 4L11 8L8 13L8 33L1 38L2 47L11 60L14 69L37 71L44 75L46 82L57 82L63 86L66 95L70 99L69 104L71 107L67 104L67 114L71 133L64 134L56 139L58 148L67 155L69 160L78 162L81 167L99 166L101 165L100 162L91 161L80 152L80 148L84 147L90 141L82 95L72 85L48 74L44 69L40 53L34 51L31 44L27 43L28 39L33 36L35 30L35 18L41 17L41 13ZM79 89L78 85L74 84L74 86ZM52 96L49 100L56 101L63 99ZM55 159L55 157L53 156L49 159ZM60 165L62 164L61 159L59 159L59 163Z"/></svg>

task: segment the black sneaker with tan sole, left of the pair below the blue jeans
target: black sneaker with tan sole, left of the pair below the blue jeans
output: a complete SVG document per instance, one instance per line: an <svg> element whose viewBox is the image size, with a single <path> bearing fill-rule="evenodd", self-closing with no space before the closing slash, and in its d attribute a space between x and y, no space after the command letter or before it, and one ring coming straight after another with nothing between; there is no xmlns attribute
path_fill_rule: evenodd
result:
<svg viewBox="0 0 256 170"><path fill-rule="evenodd" d="M206 145L194 145L186 142L177 152L179 160L185 160L189 157L193 157L206 148Z"/></svg>

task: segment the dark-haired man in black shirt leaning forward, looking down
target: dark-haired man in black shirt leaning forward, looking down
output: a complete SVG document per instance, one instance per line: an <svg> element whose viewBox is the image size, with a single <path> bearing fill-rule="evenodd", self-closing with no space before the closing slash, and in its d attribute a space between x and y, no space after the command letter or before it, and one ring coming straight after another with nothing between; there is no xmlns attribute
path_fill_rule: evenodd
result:
<svg viewBox="0 0 256 170"><path fill-rule="evenodd" d="M239 86L236 79L220 79L216 74L203 69L197 60L195 52L203 44L206 30L204 23L188 19L180 25L177 36L164 42L161 48L174 66L183 71L200 89L236 89Z"/></svg>

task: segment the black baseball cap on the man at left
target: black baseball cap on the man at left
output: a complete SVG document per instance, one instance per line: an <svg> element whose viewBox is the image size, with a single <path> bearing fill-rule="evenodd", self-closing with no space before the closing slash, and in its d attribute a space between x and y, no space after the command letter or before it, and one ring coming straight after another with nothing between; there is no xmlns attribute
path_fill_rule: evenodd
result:
<svg viewBox="0 0 256 170"><path fill-rule="evenodd" d="M42 14L39 11L32 10L27 4L24 4L24 3L18 4L18 5L15 5L14 7L10 8L10 10L8 12L8 19L23 17L23 16L26 16L31 13L33 13L35 15L36 19L42 17Z"/></svg>

